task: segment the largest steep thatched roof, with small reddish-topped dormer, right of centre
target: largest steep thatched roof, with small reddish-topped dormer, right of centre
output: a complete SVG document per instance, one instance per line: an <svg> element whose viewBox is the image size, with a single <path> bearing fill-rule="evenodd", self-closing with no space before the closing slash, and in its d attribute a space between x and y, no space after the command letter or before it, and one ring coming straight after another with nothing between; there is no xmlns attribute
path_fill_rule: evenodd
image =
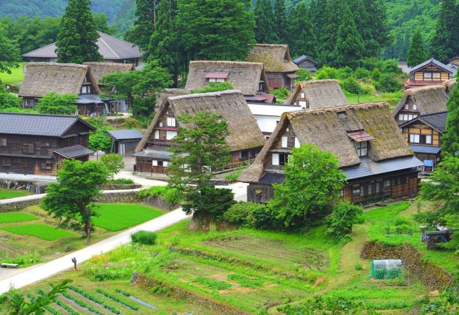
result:
<svg viewBox="0 0 459 315"><path fill-rule="evenodd" d="M346 113L339 117L337 113ZM373 161L413 155L408 143L391 117L389 104L360 103L334 108L301 110L284 113L274 133L264 145L255 162L239 176L242 182L258 182L264 173L272 145L282 137L285 126L291 123L299 143L313 143L320 150L329 150L339 158L339 167L358 165L361 160L348 132L364 130L372 135L368 158Z"/></svg>

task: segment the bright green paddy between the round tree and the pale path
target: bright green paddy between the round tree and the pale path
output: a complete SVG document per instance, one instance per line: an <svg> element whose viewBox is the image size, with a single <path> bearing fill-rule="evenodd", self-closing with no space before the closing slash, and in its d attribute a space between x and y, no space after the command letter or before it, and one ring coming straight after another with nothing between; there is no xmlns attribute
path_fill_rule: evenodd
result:
<svg viewBox="0 0 459 315"><path fill-rule="evenodd" d="M119 231L160 217L163 212L143 205L100 204L99 217L93 218L93 224L109 231Z"/></svg>

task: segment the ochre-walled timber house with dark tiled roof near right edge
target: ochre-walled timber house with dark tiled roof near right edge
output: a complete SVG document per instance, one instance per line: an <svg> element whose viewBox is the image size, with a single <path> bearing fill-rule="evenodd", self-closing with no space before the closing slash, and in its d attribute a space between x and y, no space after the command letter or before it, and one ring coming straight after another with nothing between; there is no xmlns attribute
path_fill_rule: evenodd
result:
<svg viewBox="0 0 459 315"><path fill-rule="evenodd" d="M447 117L447 111L418 115L400 125L414 155L424 163L424 170L431 171L440 162L441 135L446 130Z"/></svg>

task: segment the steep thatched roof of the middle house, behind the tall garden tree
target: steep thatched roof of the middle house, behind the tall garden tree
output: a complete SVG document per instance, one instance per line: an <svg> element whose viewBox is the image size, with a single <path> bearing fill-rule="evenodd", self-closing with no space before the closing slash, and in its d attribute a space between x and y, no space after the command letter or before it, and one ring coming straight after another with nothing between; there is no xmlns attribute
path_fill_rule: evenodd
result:
<svg viewBox="0 0 459 315"><path fill-rule="evenodd" d="M142 140L140 140L137 148L135 148L136 153L145 148L145 144L152 135L153 129L167 108L171 108L175 116L195 115L202 110L217 113L227 120L229 131L227 143L232 151L257 148L266 143L264 135L259 130L254 116L250 113L249 106L245 102L241 91L228 90L166 98L160 105L160 108L158 108L155 118L153 118L153 121L148 126ZM178 123L183 127L180 121Z"/></svg>

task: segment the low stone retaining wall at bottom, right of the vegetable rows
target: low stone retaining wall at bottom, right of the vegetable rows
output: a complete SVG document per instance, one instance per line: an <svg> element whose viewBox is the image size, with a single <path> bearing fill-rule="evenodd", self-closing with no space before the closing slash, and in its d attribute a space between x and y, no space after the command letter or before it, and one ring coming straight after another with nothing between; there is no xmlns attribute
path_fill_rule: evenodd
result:
<svg viewBox="0 0 459 315"><path fill-rule="evenodd" d="M180 288L178 286L172 286L165 284L163 281L154 279L151 276L145 276L133 272L133 277L130 279L130 283L145 289L148 291L161 292L165 296L170 296L173 299L185 300L188 303L196 304L215 312L215 314L228 314L228 315L239 315L239 314L251 314L243 309L238 309L232 305L229 305L222 301L217 301L211 297L203 296L197 292L189 291L187 289Z"/></svg>

